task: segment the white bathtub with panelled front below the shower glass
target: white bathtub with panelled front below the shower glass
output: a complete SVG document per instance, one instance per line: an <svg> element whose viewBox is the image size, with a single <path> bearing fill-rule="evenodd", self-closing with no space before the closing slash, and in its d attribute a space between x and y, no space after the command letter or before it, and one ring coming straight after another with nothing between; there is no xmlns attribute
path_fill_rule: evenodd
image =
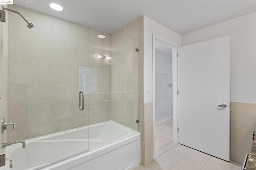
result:
<svg viewBox="0 0 256 170"><path fill-rule="evenodd" d="M140 133L115 121L25 142L26 148L20 143L6 147L0 170L132 170L140 164Z"/></svg>

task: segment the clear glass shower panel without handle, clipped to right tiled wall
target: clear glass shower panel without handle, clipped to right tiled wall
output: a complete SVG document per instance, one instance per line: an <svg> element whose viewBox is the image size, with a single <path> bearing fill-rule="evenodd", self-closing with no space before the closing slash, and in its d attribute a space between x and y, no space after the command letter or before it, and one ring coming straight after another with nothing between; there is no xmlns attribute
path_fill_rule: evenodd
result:
<svg viewBox="0 0 256 170"><path fill-rule="evenodd" d="M138 39L89 25L88 48L92 150L138 133Z"/></svg>

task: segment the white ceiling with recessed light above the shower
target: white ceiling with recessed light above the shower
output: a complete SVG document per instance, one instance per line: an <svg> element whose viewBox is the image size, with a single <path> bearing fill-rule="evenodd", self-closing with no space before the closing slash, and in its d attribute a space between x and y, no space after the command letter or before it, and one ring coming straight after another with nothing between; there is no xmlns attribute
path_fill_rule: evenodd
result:
<svg viewBox="0 0 256 170"><path fill-rule="evenodd" d="M64 10L50 9L50 2L61 4ZM98 25L108 33L144 15L183 35L256 11L256 0L14 0L14 4L76 23Z"/></svg>

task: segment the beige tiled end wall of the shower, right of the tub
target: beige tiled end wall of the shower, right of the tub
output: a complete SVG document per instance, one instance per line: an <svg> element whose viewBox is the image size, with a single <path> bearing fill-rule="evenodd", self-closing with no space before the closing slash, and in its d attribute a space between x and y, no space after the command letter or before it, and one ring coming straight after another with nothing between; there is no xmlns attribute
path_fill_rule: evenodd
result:
<svg viewBox="0 0 256 170"><path fill-rule="evenodd" d="M112 120L140 131L141 163L145 164L145 154L148 154L151 148L145 150L144 143L143 20L144 16L116 31L111 36L113 56ZM132 38L129 37L135 38L132 45L129 44ZM129 49L126 51L124 47L129 47ZM136 47L139 49L138 52L135 51ZM139 119L138 124L135 123L137 119Z"/></svg>

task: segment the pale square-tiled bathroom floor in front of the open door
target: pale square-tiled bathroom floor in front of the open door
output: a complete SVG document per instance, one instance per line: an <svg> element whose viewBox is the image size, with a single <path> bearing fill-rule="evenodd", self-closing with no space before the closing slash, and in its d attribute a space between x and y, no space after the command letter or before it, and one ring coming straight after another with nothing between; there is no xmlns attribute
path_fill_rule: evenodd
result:
<svg viewBox="0 0 256 170"><path fill-rule="evenodd" d="M241 170L242 164L238 162L226 162L174 141L166 147L148 166L140 165L134 170Z"/></svg>

